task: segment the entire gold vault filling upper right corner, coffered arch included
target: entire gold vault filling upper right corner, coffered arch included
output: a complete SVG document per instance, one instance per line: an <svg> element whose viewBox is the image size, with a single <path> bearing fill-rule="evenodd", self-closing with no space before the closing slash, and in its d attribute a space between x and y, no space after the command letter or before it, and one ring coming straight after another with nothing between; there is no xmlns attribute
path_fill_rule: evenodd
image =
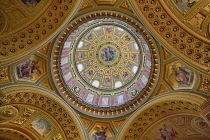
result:
<svg viewBox="0 0 210 140"><path fill-rule="evenodd" d="M165 46L209 71L209 1L131 0L139 19ZM185 9L183 9L183 7ZM199 8L198 8L199 7ZM195 37L196 36L196 37Z"/></svg>

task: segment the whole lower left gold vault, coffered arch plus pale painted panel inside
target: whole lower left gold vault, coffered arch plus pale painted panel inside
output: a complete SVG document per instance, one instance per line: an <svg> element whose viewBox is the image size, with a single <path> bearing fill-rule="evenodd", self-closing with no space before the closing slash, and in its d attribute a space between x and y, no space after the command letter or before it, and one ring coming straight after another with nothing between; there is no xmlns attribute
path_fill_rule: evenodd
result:
<svg viewBox="0 0 210 140"><path fill-rule="evenodd" d="M0 116L3 119L10 115L14 117L1 123L1 128L16 127L29 139L87 139L79 116L52 91L37 86L14 85L3 87L2 93L0 112L3 113ZM37 128L40 121L44 122L43 127L50 127L49 132Z"/></svg>

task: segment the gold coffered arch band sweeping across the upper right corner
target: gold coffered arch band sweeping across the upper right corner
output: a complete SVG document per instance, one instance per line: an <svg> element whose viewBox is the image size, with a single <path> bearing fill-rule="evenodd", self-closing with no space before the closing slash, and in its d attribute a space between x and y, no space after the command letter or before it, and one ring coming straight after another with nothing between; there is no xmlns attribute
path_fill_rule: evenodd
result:
<svg viewBox="0 0 210 140"><path fill-rule="evenodd" d="M151 29L152 34L161 44L180 59L187 60L192 64L195 63L201 69L208 72L209 57L205 48L209 47L209 39L200 36L191 29L186 29L188 27L183 23L177 23L177 17L175 18L173 15L174 18L171 18L173 12L165 10L163 1L152 1L154 2L152 4L144 0L138 2L129 0L129 3L138 19L147 28ZM189 52L192 46L199 53L194 51Z"/></svg>

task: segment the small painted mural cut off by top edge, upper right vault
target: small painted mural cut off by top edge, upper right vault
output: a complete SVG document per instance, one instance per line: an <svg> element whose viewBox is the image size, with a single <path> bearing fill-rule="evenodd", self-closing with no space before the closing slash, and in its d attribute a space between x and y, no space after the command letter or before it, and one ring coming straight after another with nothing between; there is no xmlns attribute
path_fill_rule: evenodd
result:
<svg viewBox="0 0 210 140"><path fill-rule="evenodd" d="M195 5L199 0L173 0L176 6L180 10L189 10L193 5Z"/></svg>

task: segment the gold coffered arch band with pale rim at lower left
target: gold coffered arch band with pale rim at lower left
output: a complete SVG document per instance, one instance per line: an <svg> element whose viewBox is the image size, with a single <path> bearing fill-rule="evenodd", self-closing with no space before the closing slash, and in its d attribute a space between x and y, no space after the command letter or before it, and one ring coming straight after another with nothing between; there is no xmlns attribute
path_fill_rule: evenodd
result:
<svg viewBox="0 0 210 140"><path fill-rule="evenodd" d="M2 100L3 106L20 104L40 110L46 114L41 113L44 117L49 116L53 123L56 122L65 139L86 139L85 130L79 116L55 93L37 86L25 87L23 85L3 87L2 92L5 95ZM23 112L23 116L26 118L29 114L27 110ZM31 117L35 117L35 115ZM28 122L26 124L21 122L21 124L28 126Z"/></svg>

